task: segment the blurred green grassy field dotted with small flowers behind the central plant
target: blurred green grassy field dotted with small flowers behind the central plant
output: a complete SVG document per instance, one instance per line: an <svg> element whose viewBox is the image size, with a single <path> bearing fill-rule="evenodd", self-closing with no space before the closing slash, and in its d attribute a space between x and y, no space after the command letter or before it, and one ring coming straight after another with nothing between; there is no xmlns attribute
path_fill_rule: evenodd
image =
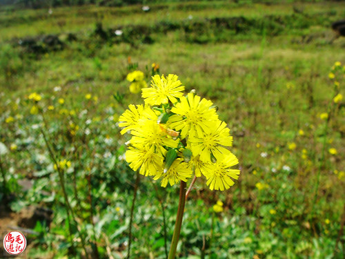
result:
<svg viewBox="0 0 345 259"><path fill-rule="evenodd" d="M149 83L152 63L218 107L241 170L228 191L197 180L178 258L343 258L345 37L331 23L345 3L239 2L0 9L0 231L23 228L28 258L126 257L137 183L117 120L143 103L126 75ZM166 258L179 189L139 180L131 258ZM51 215L25 224L32 207Z"/></svg>

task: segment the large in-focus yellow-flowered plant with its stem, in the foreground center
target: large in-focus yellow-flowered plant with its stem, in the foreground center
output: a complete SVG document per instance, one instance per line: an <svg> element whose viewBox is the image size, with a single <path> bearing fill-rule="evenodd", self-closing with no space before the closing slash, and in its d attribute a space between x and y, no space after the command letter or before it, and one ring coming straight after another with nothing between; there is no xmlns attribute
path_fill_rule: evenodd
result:
<svg viewBox="0 0 345 259"><path fill-rule="evenodd" d="M119 117L121 134L130 132L126 161L141 175L161 180L161 186L180 184L179 207L168 258L175 258L184 206L195 180L204 175L210 190L224 191L239 177L237 157L224 146L233 137L217 115L217 107L185 87L177 75L154 75L142 88L145 104L130 104ZM188 191L186 182L193 178Z"/></svg>

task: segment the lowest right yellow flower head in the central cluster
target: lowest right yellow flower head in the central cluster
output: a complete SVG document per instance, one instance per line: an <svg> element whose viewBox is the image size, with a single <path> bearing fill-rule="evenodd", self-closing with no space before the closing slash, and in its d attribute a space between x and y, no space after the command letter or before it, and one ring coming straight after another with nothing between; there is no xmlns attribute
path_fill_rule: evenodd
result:
<svg viewBox="0 0 345 259"><path fill-rule="evenodd" d="M206 164L206 170L202 173L205 175L210 190L229 189L233 186L235 179L239 178L239 170L230 169L231 166L238 164L237 157L233 153L225 155L222 160L217 160L215 163Z"/></svg>

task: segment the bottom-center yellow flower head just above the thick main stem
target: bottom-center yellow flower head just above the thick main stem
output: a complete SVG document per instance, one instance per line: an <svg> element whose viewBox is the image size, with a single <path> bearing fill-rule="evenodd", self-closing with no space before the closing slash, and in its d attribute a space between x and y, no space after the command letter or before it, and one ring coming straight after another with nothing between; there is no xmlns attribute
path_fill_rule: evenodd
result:
<svg viewBox="0 0 345 259"><path fill-rule="evenodd" d="M157 174L153 180L157 180L162 177L161 186L166 187L168 183L172 186L181 181L187 182L187 178L191 178L192 174L193 172L190 167L188 167L188 164L183 162L181 158L177 158L172 162L167 171Z"/></svg>

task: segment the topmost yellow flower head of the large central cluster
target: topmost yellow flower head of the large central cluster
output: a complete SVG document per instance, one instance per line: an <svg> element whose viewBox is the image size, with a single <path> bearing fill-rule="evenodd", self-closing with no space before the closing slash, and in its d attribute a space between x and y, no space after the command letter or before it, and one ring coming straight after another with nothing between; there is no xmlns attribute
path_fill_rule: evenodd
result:
<svg viewBox="0 0 345 259"><path fill-rule="evenodd" d="M150 105L168 104L169 100L175 104L176 98L183 96L181 92L183 90L184 86L181 86L177 75L169 74L168 77L155 75L152 77L151 87L141 89L141 96L145 103Z"/></svg>

